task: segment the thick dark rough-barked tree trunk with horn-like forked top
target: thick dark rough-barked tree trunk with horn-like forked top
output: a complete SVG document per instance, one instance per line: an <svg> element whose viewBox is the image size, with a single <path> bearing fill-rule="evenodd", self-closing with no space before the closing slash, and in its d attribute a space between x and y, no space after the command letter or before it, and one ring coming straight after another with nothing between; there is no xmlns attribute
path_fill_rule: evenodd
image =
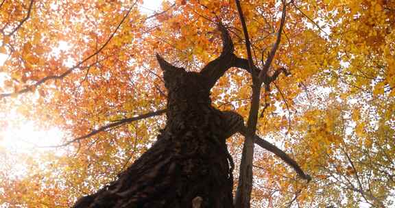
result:
<svg viewBox="0 0 395 208"><path fill-rule="evenodd" d="M228 112L211 105L210 90L231 67L256 70L237 57L228 31L219 24L222 53L200 73L187 72L157 55L167 96L167 124L157 141L116 181L77 200L74 207L234 207L232 157L226 138L241 129L231 126ZM236 116L236 117L237 117ZM256 137L263 148L288 164L296 162L272 144ZM264 142L262 142L264 141ZM283 155L281 155L283 154ZM284 156L285 155L285 156ZM287 161L288 160L288 161ZM299 168L296 164L296 167ZM299 168L300 172L302 170ZM302 174L304 174L302 172Z"/></svg>

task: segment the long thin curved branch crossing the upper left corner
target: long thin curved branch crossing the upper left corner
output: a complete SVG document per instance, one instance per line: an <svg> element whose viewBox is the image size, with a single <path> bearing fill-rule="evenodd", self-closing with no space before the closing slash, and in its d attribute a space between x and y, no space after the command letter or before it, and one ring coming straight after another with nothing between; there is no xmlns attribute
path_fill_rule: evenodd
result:
<svg viewBox="0 0 395 208"><path fill-rule="evenodd" d="M32 0L33 1L33 0ZM40 79L39 81L37 81L36 83L32 84L31 86L28 86L27 88L23 89L23 90L19 90L18 92L14 92L14 93L4 93L4 94L0 94L0 98L3 97L7 97L7 96L12 96L12 94L23 94L25 92L29 92L31 91L33 88L36 88L37 86L40 86L41 84L45 83L48 80L52 80L52 79L63 79L64 77L66 77L67 75L69 75L70 73L73 72L73 70L75 70L75 68L79 68L82 64L84 64L85 62L87 62L88 60L91 59L91 57L94 57L95 55L99 54L108 44L108 42L110 42L110 40L112 39L112 37L115 36L115 33L117 33L119 27L121 27L122 23L125 21L125 19L129 16L130 12L132 11L132 8L134 8L134 5L136 5L135 1L133 3L133 5L130 7L130 9L128 10L128 12L125 14L125 16L123 16L121 22L119 22L119 24L117 25L117 28L115 28L114 32L112 32L112 34L110 35L110 37L108 37L108 39L106 40L106 42L93 54L89 55L88 57L86 57L84 60L82 60L81 62L79 62L78 64L76 64L75 66L69 68L69 70L66 70L64 73L62 73L61 75L53 75L53 76L48 76L45 77L43 79Z"/></svg>

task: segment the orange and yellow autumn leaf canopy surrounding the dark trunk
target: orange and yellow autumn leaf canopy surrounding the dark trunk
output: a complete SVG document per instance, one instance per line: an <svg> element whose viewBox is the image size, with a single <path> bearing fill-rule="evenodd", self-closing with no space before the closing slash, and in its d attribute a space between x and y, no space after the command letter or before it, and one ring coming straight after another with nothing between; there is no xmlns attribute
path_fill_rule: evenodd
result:
<svg viewBox="0 0 395 208"><path fill-rule="evenodd" d="M250 125L250 73L266 69L276 79L259 92L256 135L312 178L255 148L251 206L392 207L395 2L237 2L163 1L145 14L140 0L2 0L0 131L29 120L62 141L29 154L0 146L0 207L71 207L116 179L166 122L156 54L199 70L222 53L219 23L252 63L226 71L212 105ZM237 170L244 141L227 140Z"/></svg>

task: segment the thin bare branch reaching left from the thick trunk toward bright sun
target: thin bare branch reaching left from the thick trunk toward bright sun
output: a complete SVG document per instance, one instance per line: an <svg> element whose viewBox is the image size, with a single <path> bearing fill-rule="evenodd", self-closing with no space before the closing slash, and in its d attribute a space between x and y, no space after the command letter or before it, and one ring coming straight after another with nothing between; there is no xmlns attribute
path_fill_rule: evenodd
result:
<svg viewBox="0 0 395 208"><path fill-rule="evenodd" d="M79 142L80 140L84 140L86 138L90 138L91 136L96 135L97 133L100 133L102 131L106 131L107 129L118 127L120 125L125 125L125 124L127 124L129 122L132 122L132 121L141 120L141 119L149 118L149 117L152 117L152 116L159 116L161 114L164 114L166 111L167 111L166 109L159 109L156 112L149 112L147 114L141 114L139 116L135 116L135 117L132 117L132 118L125 118L125 119L117 120L117 122L113 122L113 123L111 123L109 125L105 125L103 127L100 127L97 130L91 131L90 133L88 133L86 135L80 136L79 138L75 138L75 139L73 139L73 140L71 140L69 142L66 142L64 144L53 145L53 146L40 146L40 147L42 147L42 148L56 148L56 147L67 146L67 145L69 145L71 143Z"/></svg>

